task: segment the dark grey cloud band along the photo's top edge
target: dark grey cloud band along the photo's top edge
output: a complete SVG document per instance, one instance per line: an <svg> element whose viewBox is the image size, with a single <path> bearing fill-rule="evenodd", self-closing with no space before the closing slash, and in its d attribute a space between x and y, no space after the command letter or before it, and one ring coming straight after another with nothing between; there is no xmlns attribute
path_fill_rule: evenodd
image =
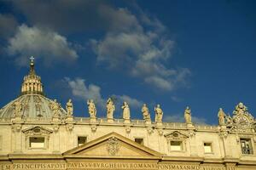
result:
<svg viewBox="0 0 256 170"><path fill-rule="evenodd" d="M113 8L108 1L55 0L12 1L32 26L45 26L63 33L119 30L137 26L135 16L125 8ZM50 16L50 17L49 17ZM134 27L134 29L139 29Z"/></svg>

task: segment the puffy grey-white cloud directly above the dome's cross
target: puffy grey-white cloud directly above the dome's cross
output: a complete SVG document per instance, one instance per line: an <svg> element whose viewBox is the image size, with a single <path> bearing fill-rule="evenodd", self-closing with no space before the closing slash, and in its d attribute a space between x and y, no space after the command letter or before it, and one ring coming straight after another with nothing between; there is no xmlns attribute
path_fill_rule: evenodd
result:
<svg viewBox="0 0 256 170"><path fill-rule="evenodd" d="M71 62L79 57L66 37L55 31L26 25L19 26L15 36L9 38L7 51L10 55L18 55L15 61L19 65L26 65L31 55L43 58L47 64L55 60Z"/></svg>

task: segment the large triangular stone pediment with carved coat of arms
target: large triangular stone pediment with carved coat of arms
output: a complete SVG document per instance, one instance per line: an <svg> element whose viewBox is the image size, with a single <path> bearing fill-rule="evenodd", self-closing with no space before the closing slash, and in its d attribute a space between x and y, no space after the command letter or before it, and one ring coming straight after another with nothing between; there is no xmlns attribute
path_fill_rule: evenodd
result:
<svg viewBox="0 0 256 170"><path fill-rule="evenodd" d="M73 150L68 150L63 156L160 159L161 154L118 133L108 133Z"/></svg>

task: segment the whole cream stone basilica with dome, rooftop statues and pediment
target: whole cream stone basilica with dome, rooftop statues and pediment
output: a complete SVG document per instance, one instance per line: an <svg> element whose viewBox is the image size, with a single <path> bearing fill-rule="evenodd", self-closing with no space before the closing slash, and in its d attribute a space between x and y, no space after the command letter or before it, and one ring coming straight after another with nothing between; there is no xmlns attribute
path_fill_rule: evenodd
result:
<svg viewBox="0 0 256 170"><path fill-rule="evenodd" d="M111 98L104 118L87 105L90 117L76 117L71 99L48 99L32 60L20 96L0 110L0 169L256 169L256 122L242 103L231 116L219 109L215 126L193 123L189 107L182 123L162 122L160 105L154 120L146 104L143 120L126 101L122 119Z"/></svg>

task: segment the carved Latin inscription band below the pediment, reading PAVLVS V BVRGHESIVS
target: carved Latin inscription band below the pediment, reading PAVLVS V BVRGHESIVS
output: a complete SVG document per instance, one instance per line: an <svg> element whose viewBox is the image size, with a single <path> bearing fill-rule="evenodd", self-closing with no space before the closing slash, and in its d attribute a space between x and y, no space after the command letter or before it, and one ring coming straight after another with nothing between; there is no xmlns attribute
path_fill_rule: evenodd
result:
<svg viewBox="0 0 256 170"><path fill-rule="evenodd" d="M68 163L13 163L0 164L0 170L52 169L147 169L147 170L226 170L226 167L205 167L186 164L124 163L124 162L68 162ZM235 170L234 168L228 168Z"/></svg>

